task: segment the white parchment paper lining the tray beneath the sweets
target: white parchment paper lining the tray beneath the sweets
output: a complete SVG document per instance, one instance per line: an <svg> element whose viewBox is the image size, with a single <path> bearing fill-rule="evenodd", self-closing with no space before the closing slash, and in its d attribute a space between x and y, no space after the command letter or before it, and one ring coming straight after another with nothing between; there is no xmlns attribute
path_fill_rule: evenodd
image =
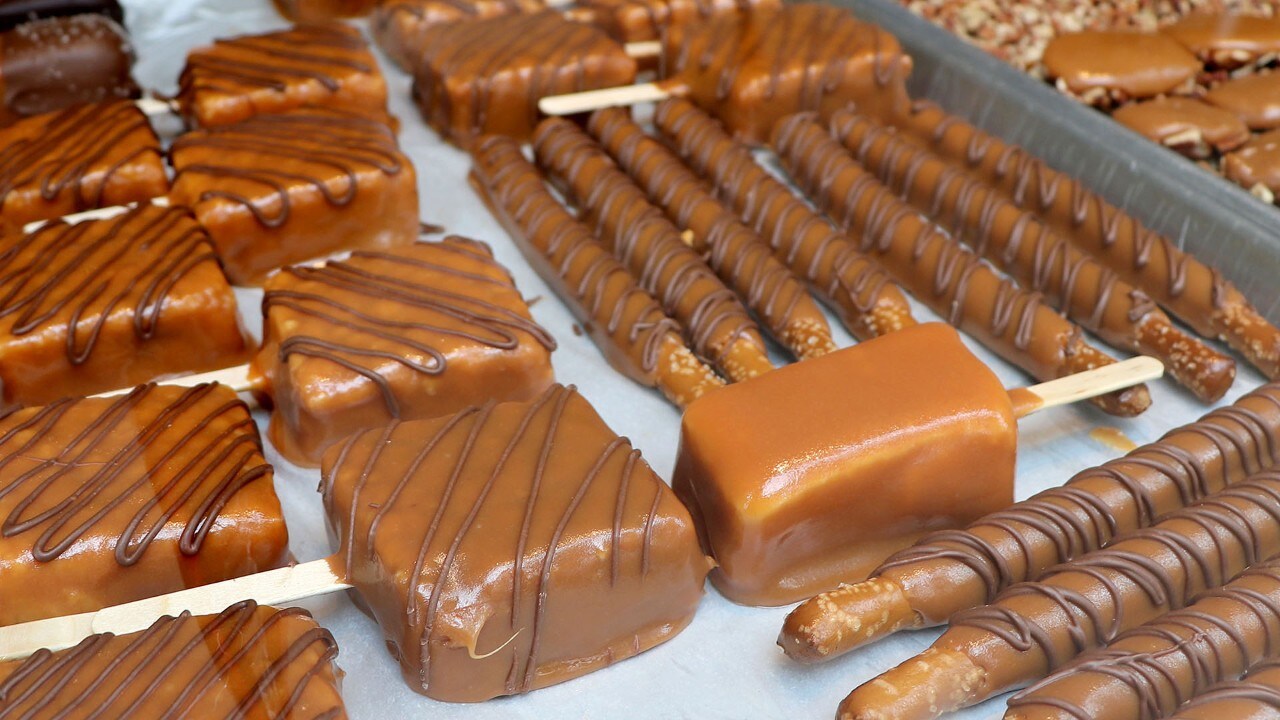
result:
<svg viewBox="0 0 1280 720"><path fill-rule="evenodd" d="M191 47L215 37L285 24L269 0L125 0L124 4L140 58L138 81L161 92L175 90ZM669 478L680 414L655 392L614 373L590 340L572 332L568 311L472 193L466 182L466 155L443 143L421 122L410 101L410 78L385 59L383 69L390 85L392 110L402 119L401 143L417 167L422 219L493 246L534 302L534 316L559 342L554 354L559 382L576 384L613 429L630 437L654 469ZM239 291L238 295L241 313L256 332L261 293ZM922 307L916 307L916 316L934 319ZM832 325L842 345L852 342L835 320ZM970 346L988 360L1006 386L1028 384L1020 372L975 343ZM1261 382L1260 374L1242 365L1226 401ZM1094 428L1115 427L1143 443L1208 410L1167 380L1153 383L1152 395L1152 410L1134 420L1117 420L1091 406L1079 406L1023 421L1018 497L1061 484L1071 474L1119 455L1091 439ZM266 416L261 411L259 420L265 428ZM268 459L276 466L275 483L284 502L293 553L300 561L328 556L332 548L316 495L319 473L294 468L270 450ZM937 637L936 630L906 633L824 666L797 666L774 644L790 609L740 607L708 585L690 628L640 657L522 697L447 705L408 689L383 647L376 624L344 596L305 606L338 639L342 648L338 662L347 674L347 706L357 720L828 719L855 685L919 652ZM1004 702L995 700L956 717L1000 717L1002 711Z"/></svg>

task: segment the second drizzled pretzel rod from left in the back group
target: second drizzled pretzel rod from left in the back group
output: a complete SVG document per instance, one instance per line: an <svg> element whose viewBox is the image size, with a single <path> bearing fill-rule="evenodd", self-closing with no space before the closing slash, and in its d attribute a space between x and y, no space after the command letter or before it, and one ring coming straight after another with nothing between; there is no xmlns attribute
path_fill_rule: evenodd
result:
<svg viewBox="0 0 1280 720"><path fill-rule="evenodd" d="M732 380L773 369L733 291L585 132L548 118L534 132L534 150L538 161L564 181L604 245L685 327L695 352Z"/></svg>

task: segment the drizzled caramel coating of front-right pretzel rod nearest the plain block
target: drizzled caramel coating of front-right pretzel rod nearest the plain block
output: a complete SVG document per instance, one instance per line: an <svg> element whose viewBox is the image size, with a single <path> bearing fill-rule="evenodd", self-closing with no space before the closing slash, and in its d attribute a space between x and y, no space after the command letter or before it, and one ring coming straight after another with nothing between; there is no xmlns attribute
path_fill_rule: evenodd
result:
<svg viewBox="0 0 1280 720"><path fill-rule="evenodd" d="M1129 455L1076 474L988 515L965 530L927 536L890 557L873 577L911 578L913 607L925 623L989 602L1004 588L1094 551L1120 533L1280 462L1280 386L1265 386ZM929 583L924 578L936 578ZM948 582L943 585L941 578ZM977 587L974 587L977 585Z"/></svg>

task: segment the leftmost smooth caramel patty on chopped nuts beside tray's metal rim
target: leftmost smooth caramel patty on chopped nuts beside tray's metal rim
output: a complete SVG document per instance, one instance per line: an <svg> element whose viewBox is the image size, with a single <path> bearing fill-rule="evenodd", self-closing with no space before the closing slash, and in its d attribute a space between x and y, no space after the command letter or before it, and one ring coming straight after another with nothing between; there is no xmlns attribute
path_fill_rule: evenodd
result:
<svg viewBox="0 0 1280 720"><path fill-rule="evenodd" d="M1044 49L1043 63L1059 90L1100 108L1188 94L1201 70L1175 40L1120 29L1060 35Z"/></svg>

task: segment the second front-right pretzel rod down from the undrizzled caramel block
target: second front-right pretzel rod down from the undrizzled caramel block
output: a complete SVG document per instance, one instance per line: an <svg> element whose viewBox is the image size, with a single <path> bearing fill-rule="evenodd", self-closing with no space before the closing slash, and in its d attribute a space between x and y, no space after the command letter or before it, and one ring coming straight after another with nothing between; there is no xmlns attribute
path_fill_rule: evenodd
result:
<svg viewBox="0 0 1280 720"><path fill-rule="evenodd" d="M850 693L838 717L914 720L977 705L1277 552L1280 474L1268 471L957 614L928 650Z"/></svg>

